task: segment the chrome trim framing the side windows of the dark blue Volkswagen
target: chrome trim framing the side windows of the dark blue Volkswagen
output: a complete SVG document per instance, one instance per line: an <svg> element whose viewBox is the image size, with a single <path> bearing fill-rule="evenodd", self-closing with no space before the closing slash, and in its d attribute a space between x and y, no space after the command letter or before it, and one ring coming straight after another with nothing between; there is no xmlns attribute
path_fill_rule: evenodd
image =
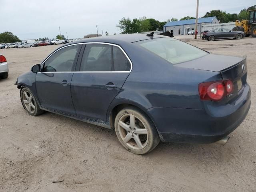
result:
<svg viewBox="0 0 256 192"><path fill-rule="evenodd" d="M56 53L57 51L68 47L68 46L73 46L73 45L80 45L80 44L105 44L105 45L111 45L111 46L116 46L118 48L120 48L120 50L124 53L124 55L126 56L126 58L128 59L128 61L130 62L131 68L129 71L63 71L63 72L38 72L38 73L130 73L132 71L132 61L130 60L130 58L128 57L128 55L126 54L126 52L122 49L121 46L117 45L117 44L112 44L112 43L105 43L105 42L85 42L85 43L76 43L76 44L72 44L72 45L67 45L64 47L61 47L59 49L57 49L56 51L54 51L52 54L50 54L50 56L52 56L54 53ZM48 56L41 64L41 66L44 64L44 62L46 62L46 60L48 60L48 58L50 58L50 56Z"/></svg>

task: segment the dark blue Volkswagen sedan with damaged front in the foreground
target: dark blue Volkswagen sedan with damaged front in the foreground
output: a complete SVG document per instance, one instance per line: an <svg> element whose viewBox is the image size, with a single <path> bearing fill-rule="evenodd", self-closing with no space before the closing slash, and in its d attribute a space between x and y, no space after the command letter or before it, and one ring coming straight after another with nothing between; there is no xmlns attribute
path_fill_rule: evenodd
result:
<svg viewBox="0 0 256 192"><path fill-rule="evenodd" d="M225 144L250 108L246 58L166 36L66 44L17 79L28 114L61 114L116 131L130 152L163 142Z"/></svg>

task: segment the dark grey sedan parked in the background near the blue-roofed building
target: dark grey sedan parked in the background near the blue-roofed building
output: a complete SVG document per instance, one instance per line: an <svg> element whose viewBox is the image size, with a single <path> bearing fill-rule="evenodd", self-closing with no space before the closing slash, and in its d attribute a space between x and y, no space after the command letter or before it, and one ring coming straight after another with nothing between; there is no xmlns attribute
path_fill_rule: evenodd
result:
<svg viewBox="0 0 256 192"><path fill-rule="evenodd" d="M204 34L204 38L208 41L214 41L215 39L242 39L245 37L245 33L242 31L232 31L226 28L212 29Z"/></svg>

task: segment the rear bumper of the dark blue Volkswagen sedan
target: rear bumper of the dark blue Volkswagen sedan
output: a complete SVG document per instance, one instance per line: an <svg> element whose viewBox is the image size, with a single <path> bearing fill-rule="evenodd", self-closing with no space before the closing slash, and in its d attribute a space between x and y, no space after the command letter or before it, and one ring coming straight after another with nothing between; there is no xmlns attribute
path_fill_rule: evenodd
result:
<svg viewBox="0 0 256 192"><path fill-rule="evenodd" d="M204 109L150 108L163 142L212 143L234 131L250 109L250 86L232 104Z"/></svg>

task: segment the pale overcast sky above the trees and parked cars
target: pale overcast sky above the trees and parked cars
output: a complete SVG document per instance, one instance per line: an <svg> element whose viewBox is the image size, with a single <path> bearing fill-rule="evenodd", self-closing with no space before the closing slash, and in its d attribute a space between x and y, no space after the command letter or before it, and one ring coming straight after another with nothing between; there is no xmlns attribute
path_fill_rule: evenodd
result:
<svg viewBox="0 0 256 192"><path fill-rule="evenodd" d="M210 10L239 13L255 0L199 0L199 17ZM196 16L196 0L0 0L0 33L10 31L21 40L41 37L83 38L87 34L119 34L122 17L171 18ZM60 26L60 31L59 31Z"/></svg>

